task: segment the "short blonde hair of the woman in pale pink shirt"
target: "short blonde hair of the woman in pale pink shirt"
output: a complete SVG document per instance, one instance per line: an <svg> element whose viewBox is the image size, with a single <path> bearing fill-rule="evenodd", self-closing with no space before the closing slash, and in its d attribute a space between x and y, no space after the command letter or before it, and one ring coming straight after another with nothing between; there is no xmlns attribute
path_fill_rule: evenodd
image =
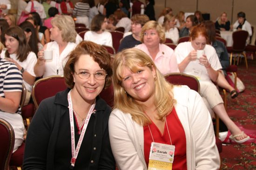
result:
<svg viewBox="0 0 256 170"><path fill-rule="evenodd" d="M164 43L165 42L165 32L162 28L162 26L160 24L158 24L158 22L156 21L148 21L142 28L141 28L141 34L140 34L140 37L141 37L141 42L144 43L143 41L143 37L144 37L144 32L147 31L147 30L156 30L158 35L159 35L159 38L160 38L160 44Z"/></svg>

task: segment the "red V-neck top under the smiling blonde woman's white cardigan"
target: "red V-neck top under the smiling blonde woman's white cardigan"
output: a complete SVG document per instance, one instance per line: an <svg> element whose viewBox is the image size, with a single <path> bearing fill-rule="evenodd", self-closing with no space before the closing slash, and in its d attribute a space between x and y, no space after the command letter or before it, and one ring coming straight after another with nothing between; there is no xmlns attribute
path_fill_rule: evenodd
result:
<svg viewBox="0 0 256 170"><path fill-rule="evenodd" d="M172 145L175 145L174 152L174 162L173 170L187 170L187 159L186 159L186 137L183 126L177 116L175 108L171 111L168 116L166 116L168 130L172 140ZM167 126L165 124L163 135L158 129L158 127L152 122L150 125L150 130L152 132L154 141L157 143L171 145L170 138L167 131ZM148 165L149 151L151 142L153 139L151 137L148 126L143 126L144 129L144 156L146 164Z"/></svg>

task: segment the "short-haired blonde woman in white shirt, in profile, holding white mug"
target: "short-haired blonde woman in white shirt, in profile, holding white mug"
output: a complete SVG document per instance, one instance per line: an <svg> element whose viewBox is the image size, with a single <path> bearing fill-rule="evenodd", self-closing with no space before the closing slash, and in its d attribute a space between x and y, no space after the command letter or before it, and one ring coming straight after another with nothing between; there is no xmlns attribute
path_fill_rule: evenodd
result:
<svg viewBox="0 0 256 170"><path fill-rule="evenodd" d="M74 20L70 16L56 15L51 23L53 27L50 29L50 38L53 41L45 44L43 50L38 52L34 67L38 77L63 75L65 58L76 46Z"/></svg>

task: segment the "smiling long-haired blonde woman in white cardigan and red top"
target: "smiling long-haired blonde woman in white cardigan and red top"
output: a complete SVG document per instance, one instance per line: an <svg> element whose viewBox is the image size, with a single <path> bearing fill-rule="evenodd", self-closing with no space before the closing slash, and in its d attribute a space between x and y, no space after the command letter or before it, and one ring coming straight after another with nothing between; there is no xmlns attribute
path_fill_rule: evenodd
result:
<svg viewBox="0 0 256 170"><path fill-rule="evenodd" d="M166 82L152 59L134 48L116 55L113 81L108 127L119 170L147 170L152 142L175 145L175 170L219 169L211 117L198 93Z"/></svg>

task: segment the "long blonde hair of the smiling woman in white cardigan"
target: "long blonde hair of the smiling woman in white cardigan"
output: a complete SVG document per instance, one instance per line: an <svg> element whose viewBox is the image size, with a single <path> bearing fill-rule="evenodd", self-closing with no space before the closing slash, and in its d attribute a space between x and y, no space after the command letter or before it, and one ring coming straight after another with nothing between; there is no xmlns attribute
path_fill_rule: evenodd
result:
<svg viewBox="0 0 256 170"><path fill-rule="evenodd" d="M122 87L122 70L126 67L136 72L138 66L147 66L149 69L155 68L155 107L157 109L157 119L162 120L163 117L170 113L174 107L175 99L173 97L173 85L169 84L160 71L156 68L152 59L142 50L131 48L122 50L115 56L113 63L113 84L114 84L114 104L115 108L120 109L124 113L130 113L132 119L145 126L151 123L151 120L145 116L142 109L143 104L138 103L135 99L127 94Z"/></svg>

